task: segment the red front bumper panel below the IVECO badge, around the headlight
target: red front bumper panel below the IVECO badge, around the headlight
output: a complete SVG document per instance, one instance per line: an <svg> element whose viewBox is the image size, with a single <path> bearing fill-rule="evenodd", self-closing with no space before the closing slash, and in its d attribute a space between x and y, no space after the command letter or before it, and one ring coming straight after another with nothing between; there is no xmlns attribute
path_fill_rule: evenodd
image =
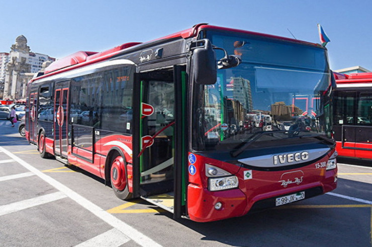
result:
<svg viewBox="0 0 372 247"><path fill-rule="evenodd" d="M322 187L323 192L331 191L337 186L334 181L337 169L326 171L326 162L331 153L329 152L316 163L285 171L258 171L243 167L239 169L238 165L195 155L196 159L191 157L193 163L189 160L189 166L194 165L196 169L192 171L194 175L189 172L189 216L192 220L200 222L220 220L244 215L255 202L267 198L280 197L314 187ZM237 176L239 187L209 191L205 163L220 167ZM249 172L250 175L246 176L245 172ZM222 209L214 208L216 202L222 203Z"/></svg>

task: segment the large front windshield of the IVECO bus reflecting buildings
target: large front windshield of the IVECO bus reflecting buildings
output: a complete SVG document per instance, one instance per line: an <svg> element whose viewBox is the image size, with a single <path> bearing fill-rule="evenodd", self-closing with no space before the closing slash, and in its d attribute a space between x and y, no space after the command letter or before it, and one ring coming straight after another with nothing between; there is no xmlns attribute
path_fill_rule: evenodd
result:
<svg viewBox="0 0 372 247"><path fill-rule="evenodd" d="M207 36L214 46L240 55L242 63L218 70L214 85L195 86L195 150L233 150L252 140L251 147L268 147L284 139L296 143L299 137L329 137L325 97L331 80L325 49L244 34L211 31ZM218 60L224 53L216 50L216 56Z"/></svg>

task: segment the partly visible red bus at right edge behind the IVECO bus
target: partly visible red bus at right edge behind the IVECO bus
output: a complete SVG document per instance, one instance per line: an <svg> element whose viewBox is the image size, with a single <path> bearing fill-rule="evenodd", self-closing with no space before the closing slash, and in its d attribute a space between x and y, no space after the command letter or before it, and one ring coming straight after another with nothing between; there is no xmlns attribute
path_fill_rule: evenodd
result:
<svg viewBox="0 0 372 247"><path fill-rule="evenodd" d="M372 159L372 73L334 73L334 139L338 155Z"/></svg>

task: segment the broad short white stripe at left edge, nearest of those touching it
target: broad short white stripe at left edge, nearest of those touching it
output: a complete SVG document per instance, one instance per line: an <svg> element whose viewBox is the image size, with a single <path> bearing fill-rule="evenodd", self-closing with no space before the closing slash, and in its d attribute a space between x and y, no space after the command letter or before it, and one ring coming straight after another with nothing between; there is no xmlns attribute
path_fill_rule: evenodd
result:
<svg viewBox="0 0 372 247"><path fill-rule="evenodd" d="M0 206L0 216L8 214L8 213L17 212L19 210L23 210L26 208L38 206L38 205L48 203L51 201L66 198L66 197L67 196L64 193L58 191L55 193L46 194L46 195L31 198L31 199L23 200L23 201L17 201L17 202L13 202L7 205L2 205Z"/></svg>

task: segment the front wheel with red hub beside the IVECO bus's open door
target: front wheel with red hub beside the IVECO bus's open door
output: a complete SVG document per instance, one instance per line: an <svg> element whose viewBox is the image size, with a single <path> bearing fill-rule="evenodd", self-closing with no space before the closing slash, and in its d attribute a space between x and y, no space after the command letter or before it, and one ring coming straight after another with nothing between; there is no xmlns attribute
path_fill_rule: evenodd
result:
<svg viewBox="0 0 372 247"><path fill-rule="evenodd" d="M126 200L132 197L128 190L126 162L120 154L114 155L111 159L110 180L118 198Z"/></svg>

